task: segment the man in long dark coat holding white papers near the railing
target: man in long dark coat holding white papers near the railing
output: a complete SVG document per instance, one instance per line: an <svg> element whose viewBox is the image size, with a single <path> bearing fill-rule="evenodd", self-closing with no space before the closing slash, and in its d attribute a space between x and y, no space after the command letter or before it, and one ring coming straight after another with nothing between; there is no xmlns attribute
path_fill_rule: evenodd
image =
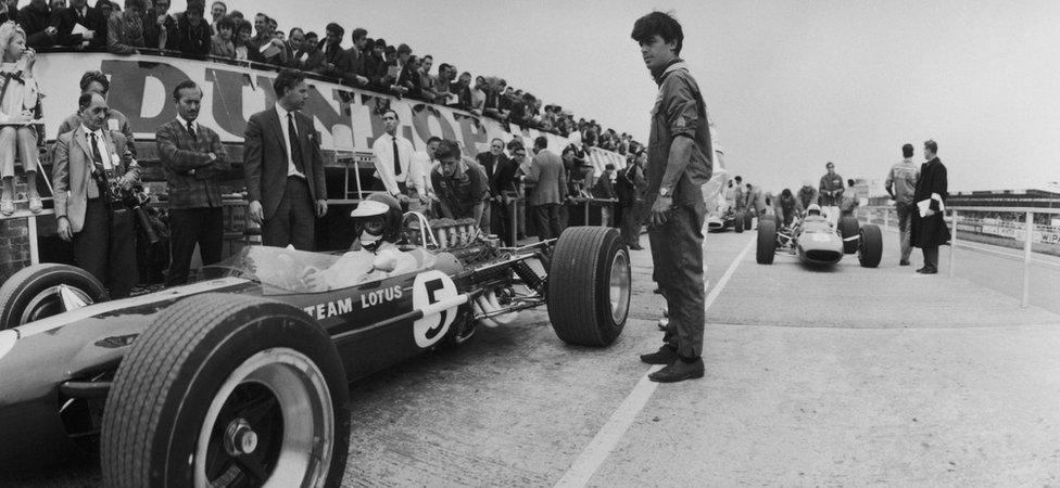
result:
<svg viewBox="0 0 1060 488"><path fill-rule="evenodd" d="M913 192L912 236L913 246L924 253L924 267L918 273L935 274L938 272L938 246L949 242L949 229L943 219L945 202L949 197L946 180L946 167L938 160L935 153L938 144L929 140L924 142L924 163L920 166L920 178L917 180L917 191Z"/></svg>

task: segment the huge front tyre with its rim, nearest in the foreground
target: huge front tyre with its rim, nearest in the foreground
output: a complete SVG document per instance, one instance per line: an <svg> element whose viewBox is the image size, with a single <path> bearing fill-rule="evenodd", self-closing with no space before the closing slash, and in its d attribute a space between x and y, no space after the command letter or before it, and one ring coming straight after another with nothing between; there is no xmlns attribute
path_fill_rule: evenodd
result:
<svg viewBox="0 0 1060 488"><path fill-rule="evenodd" d="M303 311L193 296L161 312L117 370L103 413L104 485L338 486L348 400L339 355Z"/></svg>

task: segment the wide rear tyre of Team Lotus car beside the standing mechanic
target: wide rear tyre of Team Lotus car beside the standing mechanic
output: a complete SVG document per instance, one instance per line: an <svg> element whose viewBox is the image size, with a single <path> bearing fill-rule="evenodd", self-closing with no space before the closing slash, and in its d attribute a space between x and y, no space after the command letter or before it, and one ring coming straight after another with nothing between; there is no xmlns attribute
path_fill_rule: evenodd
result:
<svg viewBox="0 0 1060 488"><path fill-rule="evenodd" d="M604 227L571 227L559 236L545 298L560 341L600 347L622 333L632 286L621 241L617 230Z"/></svg>

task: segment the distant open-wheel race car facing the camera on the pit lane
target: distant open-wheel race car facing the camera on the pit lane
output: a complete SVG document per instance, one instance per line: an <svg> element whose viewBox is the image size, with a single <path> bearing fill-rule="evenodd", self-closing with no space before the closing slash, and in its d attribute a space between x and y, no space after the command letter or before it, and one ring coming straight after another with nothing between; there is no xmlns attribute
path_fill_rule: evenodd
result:
<svg viewBox="0 0 1060 488"><path fill-rule="evenodd" d="M806 216L791 228L780 228L779 218L762 218L758 222L759 265L771 265L778 254L798 256L809 265L835 265L843 255L857 254L862 267L875 268L883 256L883 236L880 228L861 226L853 216L840 219L838 229L821 216L821 208L810 205Z"/></svg>

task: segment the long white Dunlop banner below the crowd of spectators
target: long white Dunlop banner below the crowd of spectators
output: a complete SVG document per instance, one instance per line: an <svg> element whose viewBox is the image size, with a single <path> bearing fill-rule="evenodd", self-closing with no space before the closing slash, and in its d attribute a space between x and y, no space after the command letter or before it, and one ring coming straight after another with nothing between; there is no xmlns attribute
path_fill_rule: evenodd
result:
<svg viewBox="0 0 1060 488"><path fill-rule="evenodd" d="M241 143L247 119L276 102L273 79L276 73L249 67L179 57L153 55L115 56L106 53L42 53L34 68L45 94L46 134L55 139L62 120L77 110L83 73L98 69L111 80L108 102L129 119L137 139L153 140L155 129L177 116L173 89L191 79L203 90L199 123L214 130L223 142ZM538 136L548 139L557 154L567 139L532 128L521 128L488 117L414 100L363 91L342 85L308 80L310 100L304 113L313 116L325 151L371 151L383 132L381 115L387 108L398 113L399 133L417 151L437 136L460 143L468 155L488 151L490 141L505 142L516 136L528 145ZM600 149L591 152L597 172L607 163L626 166L622 155Z"/></svg>

